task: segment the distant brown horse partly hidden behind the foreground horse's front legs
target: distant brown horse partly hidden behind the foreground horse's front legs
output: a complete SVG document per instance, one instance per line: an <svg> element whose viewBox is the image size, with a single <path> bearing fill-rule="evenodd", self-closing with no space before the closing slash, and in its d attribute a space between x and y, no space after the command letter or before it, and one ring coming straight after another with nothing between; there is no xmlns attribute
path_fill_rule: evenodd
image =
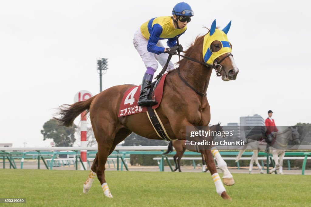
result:
<svg viewBox="0 0 311 207"><path fill-rule="evenodd" d="M210 127L212 132L220 132L222 131L222 127L220 126L220 123L213 125ZM163 155L166 155L170 152L173 151L173 146L176 150L176 154L174 155L174 163L175 163L175 169L174 171L178 170L179 172L181 172L180 169L180 160L183 157L183 153L186 151L187 149L187 145L185 140L172 140L169 142L169 146L168 149L165 153L163 153ZM189 151L193 151L193 152L198 152L197 150L193 150L193 149L189 149ZM205 169L205 161L204 161L204 156L202 151L200 150L201 156L202 156L202 172L207 172L208 168Z"/></svg>

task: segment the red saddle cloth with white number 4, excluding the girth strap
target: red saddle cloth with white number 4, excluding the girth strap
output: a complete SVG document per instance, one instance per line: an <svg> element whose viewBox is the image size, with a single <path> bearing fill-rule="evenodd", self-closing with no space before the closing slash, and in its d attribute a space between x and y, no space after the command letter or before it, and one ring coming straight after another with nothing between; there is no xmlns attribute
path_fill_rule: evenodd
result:
<svg viewBox="0 0 311 207"><path fill-rule="evenodd" d="M152 109L156 109L160 106L162 96L163 96L163 88L164 88L164 81L165 81L166 75L167 73L162 76L162 78L160 79L160 82L156 86L156 89L154 91L154 96L156 98L156 101L158 101L158 104L155 106L152 106ZM120 104L118 117L138 114L138 113L147 111L146 106L137 105L137 101L140 95L140 87L141 86L134 86L132 88L129 88L124 93L121 104Z"/></svg>

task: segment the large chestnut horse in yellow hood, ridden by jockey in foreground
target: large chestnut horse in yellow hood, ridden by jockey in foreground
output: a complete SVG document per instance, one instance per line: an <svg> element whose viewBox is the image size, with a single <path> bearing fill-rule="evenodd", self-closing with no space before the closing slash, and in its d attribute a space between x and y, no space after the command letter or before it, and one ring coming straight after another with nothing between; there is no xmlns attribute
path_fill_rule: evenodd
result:
<svg viewBox="0 0 311 207"><path fill-rule="evenodd" d="M222 80L229 81L236 79L239 70L235 65L231 54L231 44L229 46L226 36L229 28L230 24L223 30L216 29L216 21L214 20L211 30L206 34L208 36L206 38L204 38L205 35L197 37L195 42L185 51L186 56L197 62L183 58L179 61L179 71L175 69L166 76L163 98L156 112L171 139L186 139L186 126L192 127L193 130L195 130L194 126L208 126L211 113L207 97L199 95L194 90L201 93L207 91L213 68L218 71L217 74L221 75ZM219 35L214 35L220 33L225 38L219 38ZM215 40L211 42L211 38ZM205 64L206 61L203 62L204 65L202 64L202 60L204 60L202 52L203 44L207 42L210 44L208 48L212 51L211 57L215 57L212 60L213 65L209 64L208 66ZM223 51L223 43L226 43L223 47L225 51L229 47L230 52L220 54ZM198 61L201 63L198 63ZM108 155L114 151L117 144L122 142L129 134L134 132L148 139L160 139L146 113L118 117L122 97L132 87L133 85L131 84L114 86L96 94L86 101L60 106L60 117L56 119L64 126L72 125L74 119L83 111L87 110L90 113L92 128L98 143L98 152L93 161L89 177L83 185L84 193L87 193L91 188L92 182L97 175L104 195L112 198L105 179L105 163ZM202 141L202 139L197 137L197 141ZM224 173L222 177L224 184L233 185L234 180L226 167L225 161L221 158L215 147L202 151L208 169L212 174L216 192L223 199L231 199L227 195L225 187L216 171L211 151L216 158L218 167Z"/></svg>

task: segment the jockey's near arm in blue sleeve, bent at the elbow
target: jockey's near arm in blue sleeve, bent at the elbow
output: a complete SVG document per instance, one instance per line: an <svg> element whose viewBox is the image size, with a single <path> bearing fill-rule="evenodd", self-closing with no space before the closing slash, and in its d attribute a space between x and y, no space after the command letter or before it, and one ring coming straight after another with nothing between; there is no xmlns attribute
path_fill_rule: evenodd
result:
<svg viewBox="0 0 311 207"><path fill-rule="evenodd" d="M159 24L155 24L152 27L152 31L148 40L147 50L148 52L155 53L157 55L161 53L165 53L166 48L158 47L156 44L160 39L160 35L162 34L162 27Z"/></svg>

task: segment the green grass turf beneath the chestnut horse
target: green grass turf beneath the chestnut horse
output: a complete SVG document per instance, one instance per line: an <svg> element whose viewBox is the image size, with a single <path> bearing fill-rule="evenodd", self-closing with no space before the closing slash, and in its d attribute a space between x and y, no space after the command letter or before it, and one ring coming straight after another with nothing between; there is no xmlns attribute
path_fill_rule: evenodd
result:
<svg viewBox="0 0 311 207"><path fill-rule="evenodd" d="M233 174L217 195L210 173L106 171L113 199L95 179L82 193L89 171L0 169L0 198L26 198L14 206L310 206L311 176ZM221 177L222 175L220 175ZM12 206L12 204L0 204Z"/></svg>

